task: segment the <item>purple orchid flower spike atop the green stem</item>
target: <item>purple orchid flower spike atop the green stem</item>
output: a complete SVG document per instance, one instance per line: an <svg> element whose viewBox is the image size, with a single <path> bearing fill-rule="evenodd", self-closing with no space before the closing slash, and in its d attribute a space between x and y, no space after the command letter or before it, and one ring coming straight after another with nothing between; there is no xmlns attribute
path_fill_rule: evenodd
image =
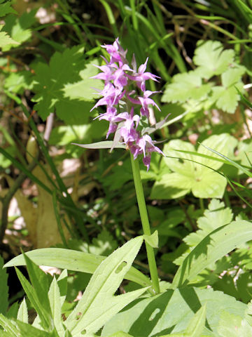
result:
<svg viewBox="0 0 252 337"><path fill-rule="evenodd" d="M106 138L111 133L116 132L118 123L120 123L120 130L118 129L120 132L118 134L119 141L127 145L134 159L143 154L143 162L148 171L151 164L151 152L164 154L154 145L155 142L151 137L144 133L144 128L141 126L140 121L141 117L149 117L149 105L155 106L160 110L155 101L150 98L153 93L158 91L146 91L146 81L148 79L158 81L160 77L151 74L151 72L146 72L148 58L144 64L139 66L137 71L137 62L133 55L132 68L130 68L126 59L127 51L120 46L118 38L113 44L106 44L102 48L106 48L110 55L110 60L108 62L104 58L106 65L96 65L101 72L92 78L102 79L104 81L104 89L100 93L102 98L98 100L92 110L95 107L106 105L106 113L96 117L99 120L105 119L109 121L109 130ZM120 112L118 113L118 111Z"/></svg>

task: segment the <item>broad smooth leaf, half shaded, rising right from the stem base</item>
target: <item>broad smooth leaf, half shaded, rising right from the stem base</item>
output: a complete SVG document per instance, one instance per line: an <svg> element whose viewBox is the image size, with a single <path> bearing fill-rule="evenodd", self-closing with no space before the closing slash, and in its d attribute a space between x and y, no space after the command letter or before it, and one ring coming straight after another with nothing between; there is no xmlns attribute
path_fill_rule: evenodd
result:
<svg viewBox="0 0 252 337"><path fill-rule="evenodd" d="M207 237L204 237L200 244L183 260L172 282L173 286L182 286L193 281L211 263L230 253L239 244L251 239L252 227L248 221L237 220L218 227Z"/></svg>

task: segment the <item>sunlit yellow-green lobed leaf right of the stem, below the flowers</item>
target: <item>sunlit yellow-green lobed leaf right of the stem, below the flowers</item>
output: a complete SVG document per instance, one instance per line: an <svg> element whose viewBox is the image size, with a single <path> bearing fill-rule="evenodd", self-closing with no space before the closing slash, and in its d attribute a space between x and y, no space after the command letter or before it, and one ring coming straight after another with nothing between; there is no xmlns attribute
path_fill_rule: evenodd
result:
<svg viewBox="0 0 252 337"><path fill-rule="evenodd" d="M221 135L210 136L202 142L202 145L203 147L200 146L195 152L194 146L183 140L171 140L165 144L163 152L167 157L163 157L162 162L174 173L164 173L161 175L162 178L155 182L151 191L152 199L179 198L190 191L193 192L195 197L199 198L223 197L227 181L225 177L216 172L221 168L223 162L209 158L209 154L211 154L211 157L218 156L213 156L207 150L207 145L228 154L234 150L237 140L228 133L222 133ZM204 147L205 145L206 147ZM193 152L202 154L202 157L195 157Z"/></svg>

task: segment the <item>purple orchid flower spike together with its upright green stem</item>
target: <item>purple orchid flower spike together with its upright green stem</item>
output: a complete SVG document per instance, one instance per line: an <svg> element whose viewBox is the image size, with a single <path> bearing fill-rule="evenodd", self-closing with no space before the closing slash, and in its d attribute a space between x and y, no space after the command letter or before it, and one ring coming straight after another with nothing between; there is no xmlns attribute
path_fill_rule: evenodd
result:
<svg viewBox="0 0 252 337"><path fill-rule="evenodd" d="M151 235L151 227L144 199L144 190L141 184L139 162L136 159L139 155L143 154L143 162L148 171L151 164L151 152L158 152L165 155L155 146L155 140L152 140L149 135L149 133L153 132L153 128L143 127L146 121L148 123L150 117L149 106L155 106L160 110L155 101L150 98L153 93L158 93L158 91L146 90L146 81L148 79L158 81L160 77L151 74L151 72L146 72L148 58L137 70L137 62L133 54L132 67L130 67L126 58L127 50L125 51L123 47L120 46L118 38L112 45L106 44L102 46L102 48L105 48L107 53L109 53L109 61L103 57L106 64L101 66L95 65L95 67L98 67L102 72L92 78L103 80L104 89L100 92L102 98L92 107L92 110L101 105L106 106L106 112L99 114L96 118L109 121L109 130L106 134L106 138L108 138L111 133L115 133L111 150L113 147L116 147L118 143L125 145L125 147L130 150L139 213L143 231L146 236L146 251L153 290L155 293L159 293L160 286L155 254L153 246L148 243L148 237ZM162 124L159 124L159 126L160 125ZM85 145L81 146L85 147ZM157 235L158 233L155 233L155 236ZM158 246L158 244L156 246Z"/></svg>

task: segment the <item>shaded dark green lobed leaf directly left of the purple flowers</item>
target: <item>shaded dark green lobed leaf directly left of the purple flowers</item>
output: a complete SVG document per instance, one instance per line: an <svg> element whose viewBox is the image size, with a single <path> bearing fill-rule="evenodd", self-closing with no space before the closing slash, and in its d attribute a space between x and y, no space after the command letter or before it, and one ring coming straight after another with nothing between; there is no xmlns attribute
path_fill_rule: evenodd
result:
<svg viewBox="0 0 252 337"><path fill-rule="evenodd" d="M64 53L54 53L49 65L36 65L37 84L34 86L36 95L33 101L42 119L56 111L57 117L66 124L87 123L95 98L90 87L101 88L102 83L89 78L98 72L93 64L97 64L97 61L85 62L83 48L74 46L66 48Z"/></svg>

